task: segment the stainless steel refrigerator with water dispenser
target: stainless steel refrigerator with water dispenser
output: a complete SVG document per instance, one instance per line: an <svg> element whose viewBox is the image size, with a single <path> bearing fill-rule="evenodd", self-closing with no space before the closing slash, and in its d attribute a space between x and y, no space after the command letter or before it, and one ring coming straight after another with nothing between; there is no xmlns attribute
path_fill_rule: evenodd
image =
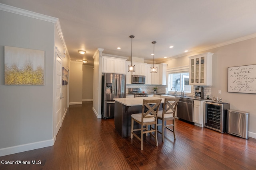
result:
<svg viewBox="0 0 256 170"><path fill-rule="evenodd" d="M102 74L102 97L101 115L102 118L114 117L114 98L125 98L126 96L126 75L125 74Z"/></svg>

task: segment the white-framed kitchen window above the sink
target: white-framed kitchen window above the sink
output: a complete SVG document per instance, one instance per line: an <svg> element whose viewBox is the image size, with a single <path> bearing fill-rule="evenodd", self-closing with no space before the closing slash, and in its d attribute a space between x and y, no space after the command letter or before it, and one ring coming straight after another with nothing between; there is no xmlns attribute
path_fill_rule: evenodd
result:
<svg viewBox="0 0 256 170"><path fill-rule="evenodd" d="M168 74L168 92L184 90L184 93L191 94L192 86L189 85L189 70L187 67L170 70Z"/></svg>

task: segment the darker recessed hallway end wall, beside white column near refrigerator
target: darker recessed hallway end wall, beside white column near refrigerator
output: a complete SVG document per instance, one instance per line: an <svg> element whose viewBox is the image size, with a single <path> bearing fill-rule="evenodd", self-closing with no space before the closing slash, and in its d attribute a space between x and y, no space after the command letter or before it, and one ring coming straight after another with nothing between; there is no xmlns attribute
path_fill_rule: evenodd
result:
<svg viewBox="0 0 256 170"><path fill-rule="evenodd" d="M83 64L82 101L92 101L93 98L93 66Z"/></svg>

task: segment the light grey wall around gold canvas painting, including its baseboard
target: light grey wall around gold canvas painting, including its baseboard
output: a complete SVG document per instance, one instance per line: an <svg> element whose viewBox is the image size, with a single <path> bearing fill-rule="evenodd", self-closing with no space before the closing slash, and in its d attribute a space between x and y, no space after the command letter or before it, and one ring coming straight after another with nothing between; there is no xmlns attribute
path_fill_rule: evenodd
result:
<svg viewBox="0 0 256 170"><path fill-rule="evenodd" d="M53 145L55 24L2 10L0 10L0 21L0 156L2 156L13 151L21 152ZM45 84L4 85L4 46L45 51Z"/></svg>

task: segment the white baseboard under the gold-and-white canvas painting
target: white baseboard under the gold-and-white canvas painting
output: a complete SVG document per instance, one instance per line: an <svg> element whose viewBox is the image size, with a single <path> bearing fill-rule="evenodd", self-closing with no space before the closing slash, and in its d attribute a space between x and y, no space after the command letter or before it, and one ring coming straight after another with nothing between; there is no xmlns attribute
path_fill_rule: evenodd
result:
<svg viewBox="0 0 256 170"><path fill-rule="evenodd" d="M8 148L2 148L0 149L0 156L5 156L8 154L15 154L19 152L25 152L28 150L34 150L34 149L39 149L39 148L44 148L44 147L50 147L54 145L55 139L50 139L47 141L40 141L40 142L35 142L35 143L28 143L24 145L18 145L14 147L8 147Z"/></svg>

